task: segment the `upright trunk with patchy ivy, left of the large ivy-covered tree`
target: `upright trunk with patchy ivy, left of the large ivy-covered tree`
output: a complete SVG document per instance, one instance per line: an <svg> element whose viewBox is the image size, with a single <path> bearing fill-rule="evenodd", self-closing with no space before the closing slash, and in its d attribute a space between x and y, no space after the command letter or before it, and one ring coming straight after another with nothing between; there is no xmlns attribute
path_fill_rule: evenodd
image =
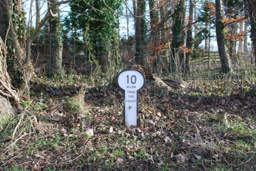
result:
<svg viewBox="0 0 256 171"><path fill-rule="evenodd" d="M51 0L50 3L54 4L57 3L57 0ZM50 5L51 7L51 5ZM60 20L59 15L59 9L58 6L52 10L52 12L55 14L58 14L57 17L52 18L49 20L49 28L50 28L50 37L51 37L51 54L50 54L50 75L51 71L53 71L54 74L60 74L62 71L62 50L63 50L63 44L62 44L62 24ZM51 69L52 68L52 69Z"/></svg>

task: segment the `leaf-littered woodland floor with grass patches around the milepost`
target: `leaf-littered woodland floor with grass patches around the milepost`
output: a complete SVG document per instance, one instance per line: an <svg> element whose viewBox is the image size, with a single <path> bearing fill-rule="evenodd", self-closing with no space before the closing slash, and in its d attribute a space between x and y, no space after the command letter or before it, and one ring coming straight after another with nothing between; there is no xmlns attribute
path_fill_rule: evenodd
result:
<svg viewBox="0 0 256 171"><path fill-rule="evenodd" d="M123 126L115 80L59 80L31 84L23 107L33 116L19 114L0 132L0 169L256 169L255 71L236 82L191 79L170 91L147 82L137 128ZM218 123L218 109L229 112L232 128Z"/></svg>

